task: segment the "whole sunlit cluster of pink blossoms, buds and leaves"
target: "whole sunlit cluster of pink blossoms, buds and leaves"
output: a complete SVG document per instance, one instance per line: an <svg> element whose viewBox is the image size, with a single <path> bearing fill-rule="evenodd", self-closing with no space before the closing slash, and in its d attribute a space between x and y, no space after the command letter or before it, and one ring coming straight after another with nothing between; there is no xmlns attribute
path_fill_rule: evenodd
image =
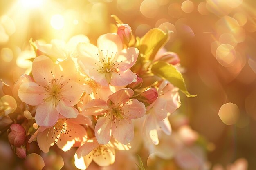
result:
<svg viewBox="0 0 256 170"><path fill-rule="evenodd" d="M160 29L135 38L118 21L115 33L99 36L97 46L85 35L67 43L31 42L31 73L12 89L4 84L10 104L0 103L1 119L13 120L14 110L19 115L8 135L13 150L26 157L34 141L45 153L54 144L65 152L74 147L76 167L86 169L92 161L113 164L116 150L130 150L141 138L134 134L142 134L148 148L158 145L163 134L171 135L169 116L180 107L179 90L193 97L177 54L162 52L167 41Z"/></svg>

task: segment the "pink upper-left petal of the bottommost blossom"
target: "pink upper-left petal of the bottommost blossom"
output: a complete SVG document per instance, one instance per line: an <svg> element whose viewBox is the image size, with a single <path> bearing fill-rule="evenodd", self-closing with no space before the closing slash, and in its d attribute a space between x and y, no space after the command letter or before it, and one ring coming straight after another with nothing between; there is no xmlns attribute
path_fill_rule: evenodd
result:
<svg viewBox="0 0 256 170"><path fill-rule="evenodd" d="M97 142L95 137L90 139L90 140L88 140L88 141L86 141L76 151L78 158L84 157L84 156L88 155L92 150L97 148L99 145L100 144Z"/></svg>

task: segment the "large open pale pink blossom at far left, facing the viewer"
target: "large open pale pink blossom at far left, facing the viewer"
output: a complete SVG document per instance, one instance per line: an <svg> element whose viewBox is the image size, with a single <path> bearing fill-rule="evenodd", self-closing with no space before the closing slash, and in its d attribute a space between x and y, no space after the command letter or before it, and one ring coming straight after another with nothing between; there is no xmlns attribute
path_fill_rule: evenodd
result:
<svg viewBox="0 0 256 170"><path fill-rule="evenodd" d="M36 124L50 127L58 120L59 114L74 118L78 110L73 106L83 93L81 85L75 82L76 67L72 60L54 65L46 56L36 57L32 65L32 75L36 82L20 85L18 96L36 109Z"/></svg>

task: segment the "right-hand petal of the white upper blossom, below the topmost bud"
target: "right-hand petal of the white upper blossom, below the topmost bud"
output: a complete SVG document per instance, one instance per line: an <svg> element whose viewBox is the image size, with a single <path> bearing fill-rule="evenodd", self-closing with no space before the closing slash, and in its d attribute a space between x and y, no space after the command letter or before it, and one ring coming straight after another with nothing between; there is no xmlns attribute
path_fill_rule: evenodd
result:
<svg viewBox="0 0 256 170"><path fill-rule="evenodd" d="M122 71L131 68L137 61L138 55L139 50L137 48L130 47L128 49L123 49L120 53L117 53L115 59L117 60L117 63L119 63L118 68Z"/></svg>

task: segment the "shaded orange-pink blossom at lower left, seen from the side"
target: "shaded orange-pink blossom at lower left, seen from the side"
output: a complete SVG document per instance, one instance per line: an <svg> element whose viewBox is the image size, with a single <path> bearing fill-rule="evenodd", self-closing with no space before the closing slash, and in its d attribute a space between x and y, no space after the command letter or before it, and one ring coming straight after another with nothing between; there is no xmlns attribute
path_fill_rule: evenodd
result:
<svg viewBox="0 0 256 170"><path fill-rule="evenodd" d="M49 152L50 146L54 143L66 152L71 147L80 146L80 143L86 140L87 132L82 125L92 125L92 121L81 114L77 118L58 119L56 124L50 128L40 126L29 139L29 143L37 138L39 148L45 153Z"/></svg>

